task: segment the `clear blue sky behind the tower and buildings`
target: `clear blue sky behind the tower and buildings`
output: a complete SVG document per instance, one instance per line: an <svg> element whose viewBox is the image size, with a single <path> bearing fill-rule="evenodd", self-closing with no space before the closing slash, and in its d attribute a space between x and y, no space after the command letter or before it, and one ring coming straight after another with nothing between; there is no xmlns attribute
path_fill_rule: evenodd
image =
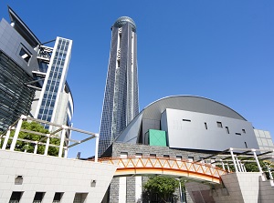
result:
<svg viewBox="0 0 274 203"><path fill-rule="evenodd" d="M272 0L2 0L1 17L9 20L7 5L41 42L73 40L74 127L99 132L111 25L127 15L137 25L140 110L164 96L205 96L274 137ZM94 145L90 140L68 156L90 157Z"/></svg>

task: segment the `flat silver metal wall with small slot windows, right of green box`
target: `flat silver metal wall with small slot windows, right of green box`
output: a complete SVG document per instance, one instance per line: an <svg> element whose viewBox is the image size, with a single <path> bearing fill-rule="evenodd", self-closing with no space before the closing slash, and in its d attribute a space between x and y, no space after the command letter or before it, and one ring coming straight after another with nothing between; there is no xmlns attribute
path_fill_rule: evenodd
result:
<svg viewBox="0 0 274 203"><path fill-rule="evenodd" d="M218 127L217 122L221 122L222 127ZM258 148L251 123L243 119L167 108L161 123L162 130L167 132L169 147L205 150Z"/></svg>

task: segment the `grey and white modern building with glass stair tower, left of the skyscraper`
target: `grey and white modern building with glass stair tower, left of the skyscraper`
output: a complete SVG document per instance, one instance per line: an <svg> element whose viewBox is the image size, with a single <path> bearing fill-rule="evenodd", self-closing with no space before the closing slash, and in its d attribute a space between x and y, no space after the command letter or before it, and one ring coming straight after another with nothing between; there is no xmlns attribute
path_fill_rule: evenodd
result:
<svg viewBox="0 0 274 203"><path fill-rule="evenodd" d="M0 22L0 131L21 115L70 126L66 76L72 41L57 37L53 47L45 46L10 7L8 13L11 23Z"/></svg>

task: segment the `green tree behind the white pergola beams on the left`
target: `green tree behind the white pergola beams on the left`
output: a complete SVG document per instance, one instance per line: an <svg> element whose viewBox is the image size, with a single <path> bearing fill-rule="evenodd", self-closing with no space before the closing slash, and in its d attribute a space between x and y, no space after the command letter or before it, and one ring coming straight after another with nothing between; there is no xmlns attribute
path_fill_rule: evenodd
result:
<svg viewBox="0 0 274 203"><path fill-rule="evenodd" d="M49 134L49 131L47 129L45 129L43 126L41 126L40 124L38 124L37 122L24 121L22 123L21 128L39 132L39 133L43 133L43 134ZM10 133L10 137L14 137L14 135L15 135L15 130L12 130ZM44 136L37 135L35 133L26 133L26 132L22 132L22 131L19 133L19 136L18 136L18 138L32 140L32 141L39 141L43 137ZM44 139L42 142L46 143L46 141L47 141L47 139ZM4 143L4 139L1 140L1 147L2 147L3 143ZM12 143L12 139L9 139L7 142L6 148L10 148L11 143ZM59 146L60 140L58 138L51 137L49 143L52 145ZM16 142L16 147L15 147L16 151L22 151L22 152L26 151L29 153L33 153L34 149L35 149L35 144L28 143L28 142L21 141L21 140L17 140L17 142ZM37 154L44 154L44 152L45 152L45 145L38 144ZM58 156L58 147L48 147L47 155Z"/></svg>

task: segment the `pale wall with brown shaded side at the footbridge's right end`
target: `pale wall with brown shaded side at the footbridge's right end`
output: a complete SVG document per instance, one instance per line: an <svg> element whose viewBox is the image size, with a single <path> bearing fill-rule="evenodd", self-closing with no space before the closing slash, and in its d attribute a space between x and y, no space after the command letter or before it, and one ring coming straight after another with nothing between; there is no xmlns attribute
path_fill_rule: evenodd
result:
<svg viewBox="0 0 274 203"><path fill-rule="evenodd" d="M231 173L222 176L222 185L187 182L186 190L194 202L270 203L274 202L274 186L261 173Z"/></svg>

